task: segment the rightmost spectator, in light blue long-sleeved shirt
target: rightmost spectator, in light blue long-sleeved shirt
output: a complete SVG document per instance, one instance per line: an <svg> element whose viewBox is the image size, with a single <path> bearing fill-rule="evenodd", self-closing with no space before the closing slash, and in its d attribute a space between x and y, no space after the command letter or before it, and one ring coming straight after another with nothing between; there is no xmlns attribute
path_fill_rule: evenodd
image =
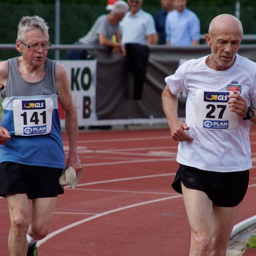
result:
<svg viewBox="0 0 256 256"><path fill-rule="evenodd" d="M166 17L166 44L190 46L199 44L200 20L186 8L187 0L175 0L176 10Z"/></svg>

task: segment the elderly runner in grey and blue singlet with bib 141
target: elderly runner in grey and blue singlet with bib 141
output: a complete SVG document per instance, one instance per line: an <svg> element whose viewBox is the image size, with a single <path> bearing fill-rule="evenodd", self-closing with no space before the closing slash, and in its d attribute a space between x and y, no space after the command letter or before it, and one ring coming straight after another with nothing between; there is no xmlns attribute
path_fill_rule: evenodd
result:
<svg viewBox="0 0 256 256"><path fill-rule="evenodd" d="M36 241L47 235L57 195L64 192L58 184L62 170L82 168L70 82L64 67L47 58L48 29L41 17L23 17L16 40L21 56L0 63L0 195L9 205L11 256L38 255ZM67 163L58 101L65 111L69 138Z"/></svg>

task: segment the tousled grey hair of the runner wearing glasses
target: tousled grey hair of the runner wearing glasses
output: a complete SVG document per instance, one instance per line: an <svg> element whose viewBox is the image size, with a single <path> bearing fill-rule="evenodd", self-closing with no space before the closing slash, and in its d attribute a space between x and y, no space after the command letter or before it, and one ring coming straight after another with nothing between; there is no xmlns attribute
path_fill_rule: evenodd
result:
<svg viewBox="0 0 256 256"><path fill-rule="evenodd" d="M17 39L23 41L24 34L35 29L39 29L49 38L49 27L43 18L37 15L22 17L18 25Z"/></svg>

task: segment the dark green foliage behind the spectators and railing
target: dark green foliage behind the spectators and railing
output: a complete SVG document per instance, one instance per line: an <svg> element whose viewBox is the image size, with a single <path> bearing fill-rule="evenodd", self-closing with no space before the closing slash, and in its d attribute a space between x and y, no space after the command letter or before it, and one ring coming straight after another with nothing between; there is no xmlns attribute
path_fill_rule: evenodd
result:
<svg viewBox="0 0 256 256"><path fill-rule="evenodd" d="M60 0L60 3L61 44L73 44L89 31L99 15L108 13L107 0ZM201 34L205 34L209 22L216 15L235 14L235 3L236 0L188 0L187 7L198 15L201 21ZM256 0L240 0L240 6L244 34L255 34ZM144 0L143 9L154 16L160 9L160 0ZM48 22L50 41L54 44L55 0L0 0L0 10L0 44L15 43L19 20L27 15L38 15ZM2 60L16 55L16 51L0 51Z"/></svg>

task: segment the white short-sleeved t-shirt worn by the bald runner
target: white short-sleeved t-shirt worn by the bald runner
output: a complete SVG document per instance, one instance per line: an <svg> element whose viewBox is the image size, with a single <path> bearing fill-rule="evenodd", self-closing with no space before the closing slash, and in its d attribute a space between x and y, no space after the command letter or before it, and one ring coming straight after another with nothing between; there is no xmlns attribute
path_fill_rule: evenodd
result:
<svg viewBox="0 0 256 256"><path fill-rule="evenodd" d="M251 101L256 106L256 63L237 54L235 64L230 69L217 71L205 64L207 57L186 61L174 75L165 79L173 94L177 95L184 90L188 93L185 122L190 129L185 132L193 137L194 141L179 143L177 162L215 172L250 169L252 167L249 140L251 122L239 118L238 124L229 129L228 120L231 117L222 120L223 116L220 113L227 92L232 90L237 90L246 100L247 105L250 105ZM196 95L202 90L204 93L201 93L199 102L198 99L196 102ZM207 99L209 104L205 103L204 99ZM200 107L207 108L204 113L207 113L210 119L200 116L202 115L198 113ZM229 111L228 107L225 109L226 113L227 111ZM196 123L198 115L199 120L202 120L201 127L198 125L200 122ZM221 118L218 119L219 117ZM212 125L211 121L214 121L215 125Z"/></svg>

